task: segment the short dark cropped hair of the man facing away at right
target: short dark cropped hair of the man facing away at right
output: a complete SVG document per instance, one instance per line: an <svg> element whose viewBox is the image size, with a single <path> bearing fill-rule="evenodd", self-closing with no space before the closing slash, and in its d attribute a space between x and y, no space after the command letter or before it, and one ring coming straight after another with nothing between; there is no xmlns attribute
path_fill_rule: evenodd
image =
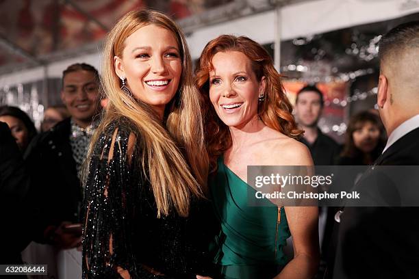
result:
<svg viewBox="0 0 419 279"><path fill-rule="evenodd" d="M398 25L381 37L379 42L380 62L390 54L400 55L407 48L419 48L419 21ZM416 59L417 57L412 57Z"/></svg>

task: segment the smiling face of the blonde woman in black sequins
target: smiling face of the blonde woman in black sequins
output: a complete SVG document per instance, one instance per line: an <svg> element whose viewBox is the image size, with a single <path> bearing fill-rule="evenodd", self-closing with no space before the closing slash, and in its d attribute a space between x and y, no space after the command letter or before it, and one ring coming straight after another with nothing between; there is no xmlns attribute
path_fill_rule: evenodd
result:
<svg viewBox="0 0 419 279"><path fill-rule="evenodd" d="M125 77L135 98L163 116L179 87L182 62L174 34L157 25L141 27L125 40L122 57L114 58L115 72Z"/></svg>

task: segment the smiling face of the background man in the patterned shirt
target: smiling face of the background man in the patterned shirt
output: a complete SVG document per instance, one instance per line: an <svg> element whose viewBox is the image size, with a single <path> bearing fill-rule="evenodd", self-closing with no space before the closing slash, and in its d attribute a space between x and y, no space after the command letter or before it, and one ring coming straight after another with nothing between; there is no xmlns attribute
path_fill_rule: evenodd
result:
<svg viewBox="0 0 419 279"><path fill-rule="evenodd" d="M99 108L99 83L93 72L76 70L63 78L62 103L80 127L88 127Z"/></svg>

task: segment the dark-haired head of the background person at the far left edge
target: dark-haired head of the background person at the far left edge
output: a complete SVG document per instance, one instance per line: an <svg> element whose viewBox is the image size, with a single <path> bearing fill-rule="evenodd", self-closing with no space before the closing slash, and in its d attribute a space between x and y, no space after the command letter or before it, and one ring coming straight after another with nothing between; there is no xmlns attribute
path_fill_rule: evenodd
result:
<svg viewBox="0 0 419 279"><path fill-rule="evenodd" d="M38 133L34 122L32 122L25 111L18 107L10 107L7 105L0 107L0 121L8 124L19 149L24 153L29 142L31 142Z"/></svg>

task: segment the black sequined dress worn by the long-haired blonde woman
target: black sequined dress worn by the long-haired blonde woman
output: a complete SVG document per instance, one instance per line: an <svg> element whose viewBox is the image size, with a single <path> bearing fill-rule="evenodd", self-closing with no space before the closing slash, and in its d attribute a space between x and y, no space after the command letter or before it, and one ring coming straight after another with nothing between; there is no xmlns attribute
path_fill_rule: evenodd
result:
<svg viewBox="0 0 419 279"><path fill-rule="evenodd" d="M157 218L138 163L144 148L132 131L127 120L111 124L94 146L84 202L83 278L122 278L121 269L132 279L214 276L208 243L216 229L209 202L194 200L188 217L173 212Z"/></svg>

